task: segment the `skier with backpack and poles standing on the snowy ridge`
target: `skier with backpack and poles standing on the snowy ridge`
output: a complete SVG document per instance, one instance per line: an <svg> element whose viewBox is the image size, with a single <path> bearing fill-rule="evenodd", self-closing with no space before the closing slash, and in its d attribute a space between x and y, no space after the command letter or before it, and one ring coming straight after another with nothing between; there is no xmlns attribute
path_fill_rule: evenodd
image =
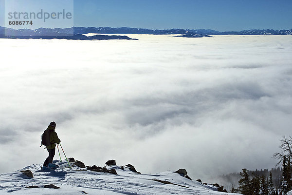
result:
<svg viewBox="0 0 292 195"><path fill-rule="evenodd" d="M42 137L43 139L46 139L46 141L44 142L45 144L42 144L46 146L48 152L49 152L49 156L47 157L47 159L45 160L44 164L43 164L43 169L50 169L50 168L54 168L56 165L53 164L53 158L55 156L55 147L56 144L60 143L60 139L57 136L57 133L55 132L55 128L56 128L56 123L53 121L49 124L48 128L44 131L44 137Z"/></svg>

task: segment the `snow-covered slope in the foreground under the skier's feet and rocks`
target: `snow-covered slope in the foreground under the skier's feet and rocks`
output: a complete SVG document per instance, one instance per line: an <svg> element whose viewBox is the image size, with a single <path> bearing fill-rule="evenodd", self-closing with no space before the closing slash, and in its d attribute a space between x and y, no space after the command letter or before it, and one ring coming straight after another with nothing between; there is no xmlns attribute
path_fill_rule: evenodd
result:
<svg viewBox="0 0 292 195"><path fill-rule="evenodd" d="M52 172L38 172L41 164L33 164L22 170L32 171L34 177L29 178L20 171L0 175L0 195L227 195L212 185L189 180L177 173L163 172L157 174L137 174L127 168L106 166L115 169L118 175L93 172L65 162L55 160L59 168ZM63 171L62 167L63 166ZM164 184L159 181L169 181ZM53 184L59 189L44 188ZM38 188L26 188L38 186Z"/></svg>

